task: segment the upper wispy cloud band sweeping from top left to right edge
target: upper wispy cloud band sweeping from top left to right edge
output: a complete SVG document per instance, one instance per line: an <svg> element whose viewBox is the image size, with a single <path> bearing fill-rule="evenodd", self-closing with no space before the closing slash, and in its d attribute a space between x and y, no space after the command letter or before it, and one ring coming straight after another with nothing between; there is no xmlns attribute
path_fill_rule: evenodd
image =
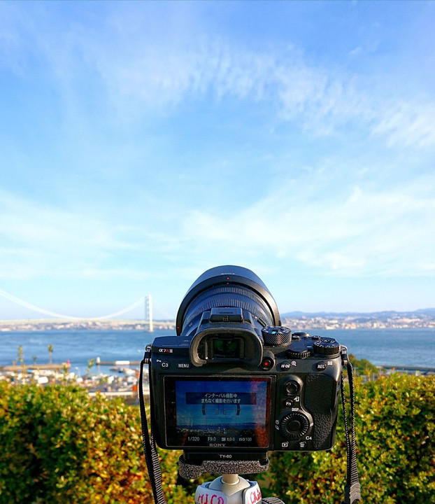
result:
<svg viewBox="0 0 435 504"><path fill-rule="evenodd" d="M159 31L145 15L136 19L132 11L124 13L127 22L121 13L102 11L98 31L77 21L64 31L53 30L55 19L47 11L41 16L47 29L41 30L39 23L15 11L19 28L9 27L3 41L8 61L22 58L16 33L26 31L34 43L27 50L37 48L39 57L45 55L71 113L80 107L74 94L83 92L83 80L92 75L99 81L87 92L97 101L108 97L118 120L165 115L184 100L236 97L272 109L278 122L297 121L313 135L354 126L390 146L435 146L435 102L397 87L395 76L392 86L385 83L387 75L377 85L344 66L313 63L301 48L275 43L253 51L201 29L173 33L161 21Z"/></svg>

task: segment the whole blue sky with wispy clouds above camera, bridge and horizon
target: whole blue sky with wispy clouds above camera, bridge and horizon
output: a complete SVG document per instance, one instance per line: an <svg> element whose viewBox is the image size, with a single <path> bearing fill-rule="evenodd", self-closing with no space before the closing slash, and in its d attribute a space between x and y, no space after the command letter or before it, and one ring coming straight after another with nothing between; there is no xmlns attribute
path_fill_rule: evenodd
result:
<svg viewBox="0 0 435 504"><path fill-rule="evenodd" d="M173 317L223 264L281 312L435 306L434 29L425 1L0 2L0 318Z"/></svg>

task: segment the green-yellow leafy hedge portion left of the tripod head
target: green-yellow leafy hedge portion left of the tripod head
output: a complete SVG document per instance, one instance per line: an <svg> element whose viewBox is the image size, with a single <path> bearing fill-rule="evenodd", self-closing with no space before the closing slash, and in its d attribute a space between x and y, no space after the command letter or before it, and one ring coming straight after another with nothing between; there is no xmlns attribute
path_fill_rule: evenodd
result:
<svg viewBox="0 0 435 504"><path fill-rule="evenodd" d="M0 382L0 503L151 503L138 408L74 386ZM176 485L176 452L163 459L168 503L186 500Z"/></svg>

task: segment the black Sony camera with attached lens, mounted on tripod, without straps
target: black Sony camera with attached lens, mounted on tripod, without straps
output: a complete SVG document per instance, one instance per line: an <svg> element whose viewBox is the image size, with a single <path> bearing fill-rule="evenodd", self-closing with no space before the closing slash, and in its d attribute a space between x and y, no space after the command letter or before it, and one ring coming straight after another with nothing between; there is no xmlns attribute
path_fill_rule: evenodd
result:
<svg viewBox="0 0 435 504"><path fill-rule="evenodd" d="M150 349L159 447L182 449L195 464L333 446L341 345L283 327L275 300L250 269L201 274L180 304L176 334L155 338Z"/></svg>

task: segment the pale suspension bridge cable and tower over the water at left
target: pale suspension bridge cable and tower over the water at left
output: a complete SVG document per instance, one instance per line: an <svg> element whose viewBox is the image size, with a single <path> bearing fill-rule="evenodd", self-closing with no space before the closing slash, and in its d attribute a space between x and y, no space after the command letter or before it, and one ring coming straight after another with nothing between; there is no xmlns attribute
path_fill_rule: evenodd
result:
<svg viewBox="0 0 435 504"><path fill-rule="evenodd" d="M71 316L71 315L66 315L66 314L59 314L55 311L51 311L51 310L48 310L48 309L45 309L42 307L38 307L35 304L24 301L24 300L20 299L20 297L17 297L13 294L10 294L10 293L6 292L6 290L3 290L3 289L0 289L0 296L10 302L18 304L24 308L30 309L31 311L36 311L37 313L41 313L43 315L47 315L52 318L62 319L64 321L80 321L80 322L108 321L108 320L113 319L115 317L127 314L127 313L129 313L129 311L132 311L132 310L136 309L137 307L143 306L144 321L148 325L148 331L152 332L154 330L154 326L155 326L155 322L153 321L153 318L152 318L152 297L150 294L140 297L137 301L135 301L132 304L129 304L129 306L127 306L123 309L120 309L120 310L115 311L110 314L95 316L95 317L78 317L78 316Z"/></svg>

